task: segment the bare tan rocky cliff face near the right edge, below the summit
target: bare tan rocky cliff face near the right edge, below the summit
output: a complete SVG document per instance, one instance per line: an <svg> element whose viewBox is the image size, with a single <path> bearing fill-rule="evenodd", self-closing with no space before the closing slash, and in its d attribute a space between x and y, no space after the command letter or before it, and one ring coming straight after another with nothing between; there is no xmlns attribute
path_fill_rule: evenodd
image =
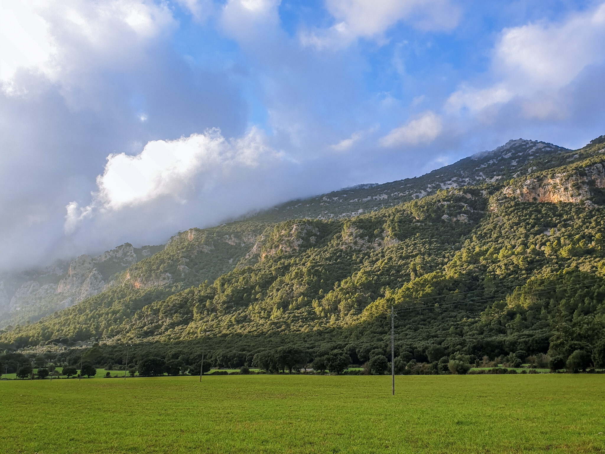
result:
<svg viewBox="0 0 605 454"><path fill-rule="evenodd" d="M571 172L530 178L521 186L507 186L503 192L522 202L580 203L605 188L604 163L596 163Z"/></svg>

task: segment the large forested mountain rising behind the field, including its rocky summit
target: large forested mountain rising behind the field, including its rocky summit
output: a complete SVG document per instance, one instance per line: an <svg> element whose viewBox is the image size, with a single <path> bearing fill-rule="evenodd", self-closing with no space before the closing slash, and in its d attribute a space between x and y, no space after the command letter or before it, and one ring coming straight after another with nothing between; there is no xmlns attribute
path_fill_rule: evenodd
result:
<svg viewBox="0 0 605 454"><path fill-rule="evenodd" d="M114 285L0 343L94 338L121 361L126 341L168 355L209 332L225 366L284 343L364 361L387 345L393 306L406 361L435 344L454 357L590 355L605 346L604 154L598 141L514 140L417 179L180 232Z"/></svg>

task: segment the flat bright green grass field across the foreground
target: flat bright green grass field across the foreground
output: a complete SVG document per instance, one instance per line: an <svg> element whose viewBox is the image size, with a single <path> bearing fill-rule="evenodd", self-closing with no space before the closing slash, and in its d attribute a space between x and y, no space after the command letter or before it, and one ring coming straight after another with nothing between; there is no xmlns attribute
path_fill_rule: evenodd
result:
<svg viewBox="0 0 605 454"><path fill-rule="evenodd" d="M605 450L605 375L229 375L0 383L5 453Z"/></svg>

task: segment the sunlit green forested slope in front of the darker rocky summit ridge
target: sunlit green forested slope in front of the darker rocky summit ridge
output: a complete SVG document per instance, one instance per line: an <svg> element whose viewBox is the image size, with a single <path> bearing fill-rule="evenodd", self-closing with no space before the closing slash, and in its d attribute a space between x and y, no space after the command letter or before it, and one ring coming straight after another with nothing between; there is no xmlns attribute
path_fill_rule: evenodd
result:
<svg viewBox="0 0 605 454"><path fill-rule="evenodd" d="M187 341L201 331L351 332L391 304L420 301L439 309L423 316L426 329L410 333L419 339L460 324L470 334L465 342L543 346L559 315L573 321L601 311L602 147L556 151L550 161L539 158L543 169L532 164L515 178L442 189L350 219L255 218L191 229L128 268L120 285L0 339L14 347L91 337ZM569 163L554 165L561 160ZM515 297L526 283L537 293ZM437 323L460 311L463 320Z"/></svg>

